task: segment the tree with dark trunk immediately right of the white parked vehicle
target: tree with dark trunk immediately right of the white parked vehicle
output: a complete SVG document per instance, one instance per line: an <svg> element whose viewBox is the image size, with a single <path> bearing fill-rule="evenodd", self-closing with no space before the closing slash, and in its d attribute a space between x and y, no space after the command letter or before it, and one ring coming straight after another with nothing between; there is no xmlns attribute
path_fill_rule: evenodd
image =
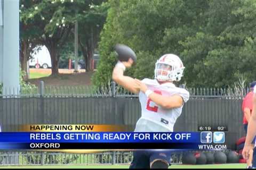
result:
<svg viewBox="0 0 256 170"><path fill-rule="evenodd" d="M59 73L59 54L73 27L74 2L69 1L24 1L21 4L20 20L30 25L30 36L50 52L52 75Z"/></svg>

